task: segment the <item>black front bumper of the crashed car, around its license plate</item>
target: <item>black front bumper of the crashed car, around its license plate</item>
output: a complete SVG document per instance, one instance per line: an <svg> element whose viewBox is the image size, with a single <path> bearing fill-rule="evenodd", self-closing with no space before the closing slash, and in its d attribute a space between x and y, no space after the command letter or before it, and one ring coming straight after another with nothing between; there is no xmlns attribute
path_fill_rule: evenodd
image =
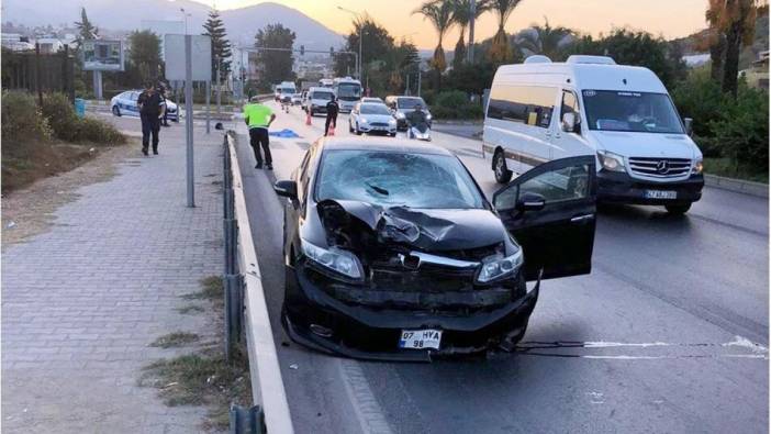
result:
<svg viewBox="0 0 771 434"><path fill-rule="evenodd" d="M491 299L501 291L450 293L447 309L410 309L403 304L444 293L351 291L345 297L331 293L329 278L320 278L310 267L287 267L282 324L290 337L304 346L329 354L373 360L431 361L435 357L483 353L524 333L538 300L540 282L509 302ZM401 299L400 299L401 296ZM470 307L468 301L474 300ZM399 305L402 303L402 305ZM314 325L312 327L311 325ZM322 326L328 333L317 333ZM399 348L403 330L442 330L439 349ZM515 342L514 342L515 343Z"/></svg>

